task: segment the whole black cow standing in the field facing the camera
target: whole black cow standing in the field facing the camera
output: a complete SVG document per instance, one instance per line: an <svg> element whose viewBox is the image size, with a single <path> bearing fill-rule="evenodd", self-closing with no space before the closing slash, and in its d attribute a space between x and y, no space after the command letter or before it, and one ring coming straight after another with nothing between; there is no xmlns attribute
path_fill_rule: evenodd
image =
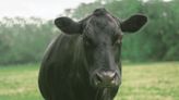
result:
<svg viewBox="0 0 179 100"><path fill-rule="evenodd" d="M139 30L147 18L119 21L105 9L74 22L59 17L63 34L48 47L39 71L45 100L114 100L121 84L122 32Z"/></svg>

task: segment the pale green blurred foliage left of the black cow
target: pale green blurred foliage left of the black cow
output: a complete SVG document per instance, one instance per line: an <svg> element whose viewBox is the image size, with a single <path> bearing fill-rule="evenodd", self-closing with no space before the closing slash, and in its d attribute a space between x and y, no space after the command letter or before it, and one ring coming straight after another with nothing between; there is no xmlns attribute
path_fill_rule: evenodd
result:
<svg viewBox="0 0 179 100"><path fill-rule="evenodd" d="M41 60L55 36L51 21L4 17L0 24L0 64L29 63Z"/></svg>

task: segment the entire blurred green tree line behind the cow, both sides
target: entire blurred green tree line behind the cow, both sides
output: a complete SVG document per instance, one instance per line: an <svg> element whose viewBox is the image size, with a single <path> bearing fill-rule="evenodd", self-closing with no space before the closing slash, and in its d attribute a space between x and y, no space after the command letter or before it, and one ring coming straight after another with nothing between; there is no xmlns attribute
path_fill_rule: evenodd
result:
<svg viewBox="0 0 179 100"><path fill-rule="evenodd" d="M179 60L179 0L96 0L68 9L64 14L76 20L94 9L106 8L124 20L142 13L148 17L138 34L124 35L122 59L127 61ZM3 17L0 21L0 64L39 62L50 40L60 32L52 21L37 17Z"/></svg>

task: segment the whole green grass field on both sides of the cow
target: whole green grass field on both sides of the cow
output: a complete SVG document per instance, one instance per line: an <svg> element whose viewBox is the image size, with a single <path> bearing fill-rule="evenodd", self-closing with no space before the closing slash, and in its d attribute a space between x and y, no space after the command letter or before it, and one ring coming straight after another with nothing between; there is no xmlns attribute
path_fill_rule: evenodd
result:
<svg viewBox="0 0 179 100"><path fill-rule="evenodd" d="M43 100L38 66L0 66L0 100ZM179 62L123 64L115 100L179 100Z"/></svg>

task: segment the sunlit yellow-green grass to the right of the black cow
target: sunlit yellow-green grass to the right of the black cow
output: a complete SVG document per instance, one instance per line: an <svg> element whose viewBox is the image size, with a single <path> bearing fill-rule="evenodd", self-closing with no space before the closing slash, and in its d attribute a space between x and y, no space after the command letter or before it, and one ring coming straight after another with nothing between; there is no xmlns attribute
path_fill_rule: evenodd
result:
<svg viewBox="0 0 179 100"><path fill-rule="evenodd" d="M123 65L116 100L179 100L179 62Z"/></svg>

